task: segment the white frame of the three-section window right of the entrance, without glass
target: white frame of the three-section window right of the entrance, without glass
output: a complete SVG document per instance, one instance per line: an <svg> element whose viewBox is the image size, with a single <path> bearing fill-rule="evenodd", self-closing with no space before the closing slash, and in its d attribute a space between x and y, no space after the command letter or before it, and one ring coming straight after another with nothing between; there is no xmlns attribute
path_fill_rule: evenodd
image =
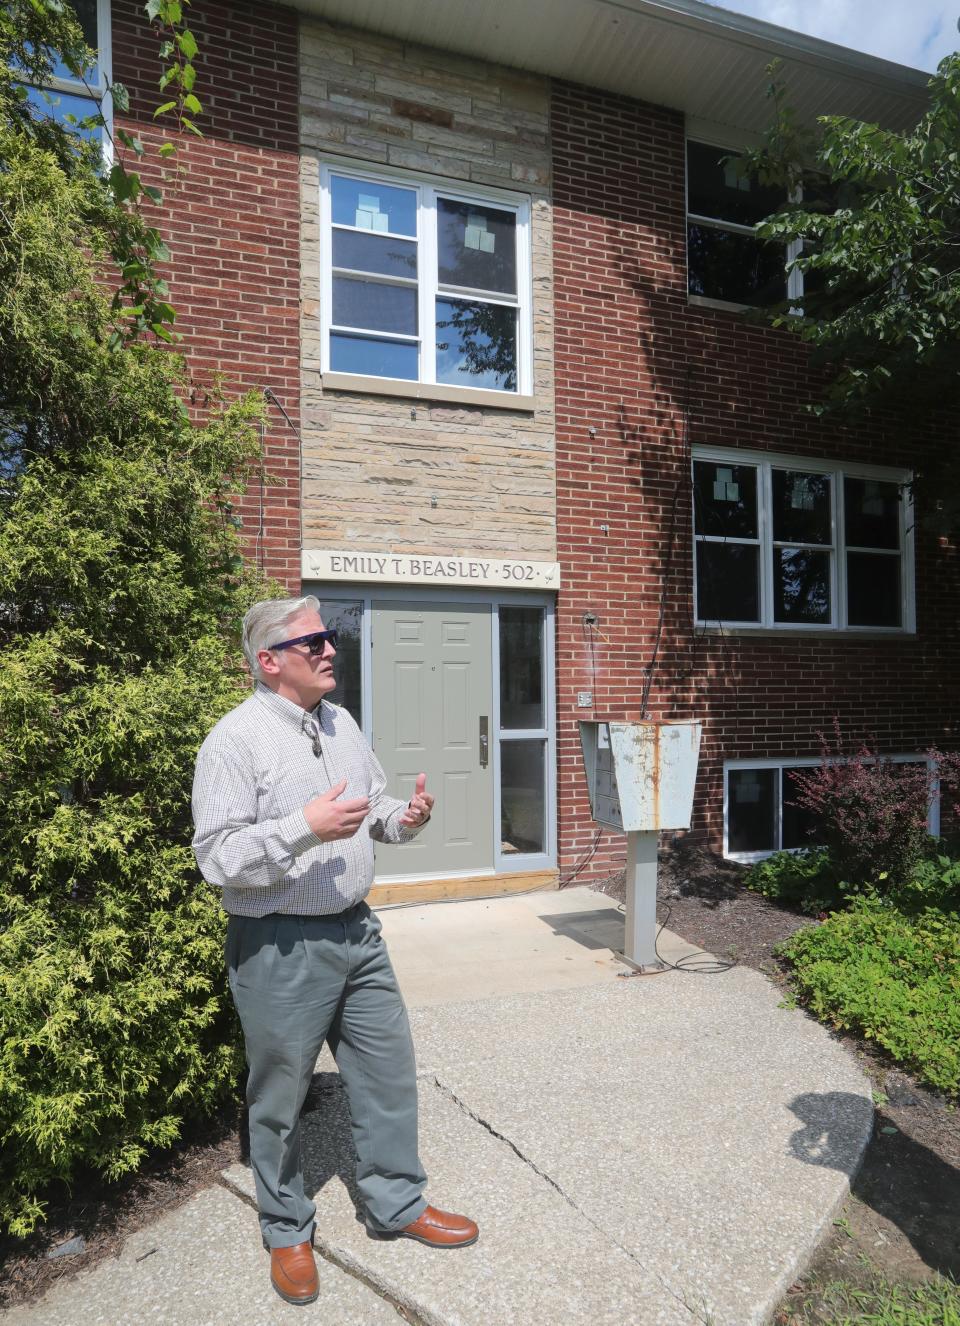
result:
<svg viewBox="0 0 960 1326"><path fill-rule="evenodd" d="M696 512L692 516L693 537L693 621L696 626L723 627L736 631L797 631L817 634L823 631L857 635L914 635L916 633L916 595L914 586L914 503L910 492L911 472L884 465L846 464L842 461L817 460L808 456L789 456L782 452L748 451L731 447L693 446L691 452L691 484L696 461L724 465L750 465L757 473L757 538L735 538L727 536L704 536L696 532ZM804 548L827 552L826 545L784 544L773 540L773 495L772 472L790 469L794 473L826 475L831 483L831 536L829 549L830 574L830 622L776 622L773 618L773 549L777 546ZM847 545L843 528L843 479L875 479L880 483L900 485L899 557L900 557L900 626L851 626L847 622L846 554L867 552L879 557L898 556L894 549ZM760 548L760 621L717 621L701 618L697 613L697 572L696 546L700 542L750 544Z"/></svg>

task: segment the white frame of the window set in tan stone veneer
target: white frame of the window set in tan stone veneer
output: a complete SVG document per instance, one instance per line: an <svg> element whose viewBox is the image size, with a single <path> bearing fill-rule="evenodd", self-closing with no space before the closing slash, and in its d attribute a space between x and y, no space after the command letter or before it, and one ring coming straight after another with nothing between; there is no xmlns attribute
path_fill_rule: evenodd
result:
<svg viewBox="0 0 960 1326"><path fill-rule="evenodd" d="M350 374L330 369L330 333L333 328L333 216L330 200L330 176L346 176L363 180L370 184L386 184L392 187L411 188L416 192L416 243L418 243L418 277L416 281L403 281L403 278L386 278L389 284L412 285L418 288L418 325L419 335L402 337L389 333L390 339L412 341L419 345L419 377L416 378L379 378L367 374ZM460 286L447 286L438 280L438 251L436 251L436 202L439 198L450 199L455 203L476 203L479 206L492 206L501 211L513 212L517 217L516 245L517 245L517 294L516 298L496 294L487 290L468 290ZM411 236L398 236L411 239ZM487 402L496 402L509 407L516 400L529 398L533 392L533 274L530 253L530 199L524 194L507 192L497 188L487 188L480 184L464 186L463 182L450 183L431 180L423 175L410 171L400 171L387 166L371 166L365 170L355 163L341 164L335 160L322 162L320 167L320 245L321 245L321 374L324 377L335 375L338 379L355 378L358 386L367 382L383 382L391 386L407 389L410 394L416 394L415 389L435 387L438 394L455 391L476 394ZM366 276L366 273L365 273ZM377 280L377 277L373 277ZM444 296L450 298L469 298L476 296L485 304L497 304L517 310L517 386L514 391L503 391L496 387L475 387L468 383L439 383L436 381L436 337L432 334L435 326L436 300ZM347 329L355 334L355 329ZM382 333L383 334L383 333ZM373 333L371 333L373 335Z"/></svg>

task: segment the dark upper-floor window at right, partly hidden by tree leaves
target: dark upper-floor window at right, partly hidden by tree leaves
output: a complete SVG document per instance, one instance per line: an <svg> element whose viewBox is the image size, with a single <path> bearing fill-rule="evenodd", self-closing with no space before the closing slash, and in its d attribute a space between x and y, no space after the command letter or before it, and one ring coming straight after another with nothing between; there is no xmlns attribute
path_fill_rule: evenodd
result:
<svg viewBox="0 0 960 1326"><path fill-rule="evenodd" d="M765 308L802 293L786 264L800 253L757 237L786 202L784 190L743 175L729 147L687 141L687 288L692 297Z"/></svg>

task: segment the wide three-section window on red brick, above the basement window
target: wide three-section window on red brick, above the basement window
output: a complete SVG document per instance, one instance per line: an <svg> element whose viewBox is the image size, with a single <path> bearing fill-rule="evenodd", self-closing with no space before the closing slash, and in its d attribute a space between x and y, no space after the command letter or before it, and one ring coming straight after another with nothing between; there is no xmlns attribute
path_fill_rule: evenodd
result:
<svg viewBox="0 0 960 1326"><path fill-rule="evenodd" d="M908 475L693 451L696 621L912 631Z"/></svg>

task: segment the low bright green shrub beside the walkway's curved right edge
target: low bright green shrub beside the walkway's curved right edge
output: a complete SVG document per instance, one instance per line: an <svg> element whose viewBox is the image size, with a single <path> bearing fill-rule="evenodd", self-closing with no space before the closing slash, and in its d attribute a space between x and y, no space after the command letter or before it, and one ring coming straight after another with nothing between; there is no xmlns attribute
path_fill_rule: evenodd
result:
<svg viewBox="0 0 960 1326"><path fill-rule="evenodd" d="M831 1026L876 1041L931 1086L960 1093L960 918L907 915L888 899L798 931L778 949L798 998Z"/></svg>

